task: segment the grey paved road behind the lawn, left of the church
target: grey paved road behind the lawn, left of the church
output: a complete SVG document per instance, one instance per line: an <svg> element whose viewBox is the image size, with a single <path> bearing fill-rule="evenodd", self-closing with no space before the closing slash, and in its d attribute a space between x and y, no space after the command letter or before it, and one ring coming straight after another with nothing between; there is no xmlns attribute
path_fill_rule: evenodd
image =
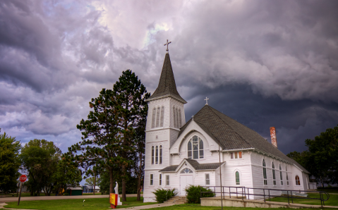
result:
<svg viewBox="0 0 338 210"><path fill-rule="evenodd" d="M122 194L119 194L122 197ZM137 194L126 194L126 197L137 197ZM143 197L143 194L141 194ZM88 199L88 198L107 198L109 194L100 195L73 195L73 196L34 196L34 197L21 197L20 201L42 201L42 200L59 200L59 199ZM6 202L18 202L18 197L2 197L0 204Z"/></svg>

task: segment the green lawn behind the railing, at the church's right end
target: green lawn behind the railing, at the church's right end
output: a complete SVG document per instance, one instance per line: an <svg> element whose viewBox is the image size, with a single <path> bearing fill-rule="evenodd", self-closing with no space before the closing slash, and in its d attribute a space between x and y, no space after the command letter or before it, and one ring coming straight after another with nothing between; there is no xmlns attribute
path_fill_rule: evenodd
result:
<svg viewBox="0 0 338 210"><path fill-rule="evenodd" d="M313 197L313 198L319 198L318 193L309 193L308 197ZM324 194L324 198L326 198ZM272 202L288 202L287 198L282 198L282 197L276 197L274 199L271 199ZM291 199L290 199L291 203ZM320 200L313 200L313 199L294 199L294 204L310 204L310 205L320 205ZM330 199L325 202L325 205L327 206L337 206L338 208L338 194L330 194Z"/></svg>

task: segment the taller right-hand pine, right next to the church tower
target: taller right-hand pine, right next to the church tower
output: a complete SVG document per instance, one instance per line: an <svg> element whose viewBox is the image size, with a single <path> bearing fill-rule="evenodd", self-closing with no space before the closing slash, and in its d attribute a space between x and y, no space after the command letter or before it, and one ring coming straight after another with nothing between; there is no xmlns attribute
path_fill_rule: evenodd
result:
<svg viewBox="0 0 338 210"><path fill-rule="evenodd" d="M131 70L122 72L122 75L113 87L114 107L119 113L119 128L121 130L121 178L122 178L122 201L126 201L126 178L127 169L131 168L133 161L131 155L135 152L135 130L140 121L143 121L147 114L147 102L150 97L145 86L138 80L138 76Z"/></svg>

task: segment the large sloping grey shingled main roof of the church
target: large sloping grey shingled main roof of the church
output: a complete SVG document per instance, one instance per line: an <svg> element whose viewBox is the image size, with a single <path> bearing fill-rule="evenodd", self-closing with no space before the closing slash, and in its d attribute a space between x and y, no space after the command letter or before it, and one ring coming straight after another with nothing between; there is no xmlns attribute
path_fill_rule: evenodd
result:
<svg viewBox="0 0 338 210"><path fill-rule="evenodd" d="M203 106L203 108L195 114L193 120L205 130L212 139L216 142L220 142L220 146L224 150L258 149L261 152L272 154L291 163L295 163L301 170L308 172L299 163L294 161L294 159L289 158L284 153L280 152L279 149L267 142L267 140L257 132L234 119L229 118L209 105ZM179 136L186 130L186 127L191 121L192 119L183 125L179 132Z"/></svg>

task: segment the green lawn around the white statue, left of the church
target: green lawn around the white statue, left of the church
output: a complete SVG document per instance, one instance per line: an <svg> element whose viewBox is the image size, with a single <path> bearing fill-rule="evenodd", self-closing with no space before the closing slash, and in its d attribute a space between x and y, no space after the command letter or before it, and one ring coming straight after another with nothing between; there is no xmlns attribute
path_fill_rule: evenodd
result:
<svg viewBox="0 0 338 210"><path fill-rule="evenodd" d="M156 203L143 203L143 197L138 202L136 197L127 197L127 202L123 202L122 206L117 206L118 208L126 208L132 206L143 206ZM84 206L83 206L84 205ZM18 202L8 202L8 205L5 206L8 209L43 209L43 210L70 210L70 209L90 209L90 210L103 210L110 209L109 199L108 198L89 198L85 199L83 204L83 199L62 199L62 200L49 200L49 201L21 201L20 206Z"/></svg>

